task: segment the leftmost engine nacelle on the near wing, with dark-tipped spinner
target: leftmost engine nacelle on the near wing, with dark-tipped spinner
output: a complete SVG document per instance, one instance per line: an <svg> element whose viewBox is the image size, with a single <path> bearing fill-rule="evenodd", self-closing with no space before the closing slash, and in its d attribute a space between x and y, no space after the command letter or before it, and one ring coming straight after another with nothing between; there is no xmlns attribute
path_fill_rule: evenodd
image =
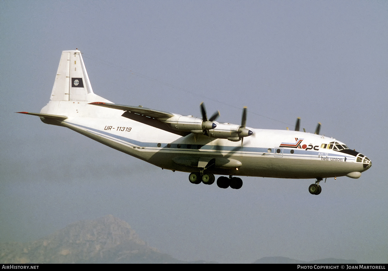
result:
<svg viewBox="0 0 388 271"><path fill-rule="evenodd" d="M200 117L192 116L173 116L168 119L159 119L168 124L172 129L177 131L192 131L193 133L202 133L203 130L216 128L212 121L203 121Z"/></svg>

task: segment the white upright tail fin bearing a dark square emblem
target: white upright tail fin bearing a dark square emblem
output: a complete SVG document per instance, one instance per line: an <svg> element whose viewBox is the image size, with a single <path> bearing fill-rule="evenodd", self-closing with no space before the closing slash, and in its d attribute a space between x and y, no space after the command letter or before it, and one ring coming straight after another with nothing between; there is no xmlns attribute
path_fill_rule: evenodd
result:
<svg viewBox="0 0 388 271"><path fill-rule="evenodd" d="M50 100L87 101L89 93L93 93L93 90L81 52L63 51Z"/></svg>

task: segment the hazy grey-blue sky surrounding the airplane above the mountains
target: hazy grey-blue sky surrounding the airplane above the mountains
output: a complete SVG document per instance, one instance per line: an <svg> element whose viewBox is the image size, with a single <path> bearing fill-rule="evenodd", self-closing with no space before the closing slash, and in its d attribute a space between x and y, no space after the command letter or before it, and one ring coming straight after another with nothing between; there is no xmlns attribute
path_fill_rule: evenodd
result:
<svg viewBox="0 0 388 271"><path fill-rule="evenodd" d="M127 221L181 260L265 256L388 262L387 1L0 2L0 242L81 219ZM372 167L359 179L244 177L193 185L69 129L44 124L62 50L83 53L112 102L254 128L301 128L345 142Z"/></svg>

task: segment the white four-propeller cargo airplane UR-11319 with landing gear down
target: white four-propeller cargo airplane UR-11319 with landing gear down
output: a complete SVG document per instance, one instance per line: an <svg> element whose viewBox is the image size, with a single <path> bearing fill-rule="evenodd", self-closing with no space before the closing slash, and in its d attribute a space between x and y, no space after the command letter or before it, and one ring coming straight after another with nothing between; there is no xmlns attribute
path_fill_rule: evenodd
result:
<svg viewBox="0 0 388 271"><path fill-rule="evenodd" d="M193 184L211 185L215 174L220 188L242 187L236 176L315 179L308 191L319 195L325 178L359 178L372 165L370 159L345 143L315 133L253 129L241 124L218 123L219 112L207 117L182 116L142 106L119 105L92 90L81 52L63 51L50 101L38 116L43 123L63 126L111 148L162 169L189 174ZM303 129L305 130L305 129ZM225 176L226 175L226 176Z"/></svg>

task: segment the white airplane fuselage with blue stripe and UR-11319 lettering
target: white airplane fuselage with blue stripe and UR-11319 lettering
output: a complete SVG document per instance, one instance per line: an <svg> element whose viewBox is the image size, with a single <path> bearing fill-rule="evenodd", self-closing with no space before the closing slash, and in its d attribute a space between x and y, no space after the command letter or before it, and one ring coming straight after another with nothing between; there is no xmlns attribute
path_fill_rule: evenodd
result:
<svg viewBox="0 0 388 271"><path fill-rule="evenodd" d="M101 101L101 98L95 95L93 100ZM63 121L41 119L45 123L72 129L155 166L176 171L200 171L213 158L215 167L209 169L213 174L275 178L345 175L358 178L371 166L370 162L365 164L365 160L363 163L362 158L357 161L355 151L347 154L322 148L324 144L336 141L322 135L249 128L253 135L244 138L243 144L194 133L181 136L124 117L123 110L91 105L90 101L52 100L41 113L68 118Z"/></svg>

